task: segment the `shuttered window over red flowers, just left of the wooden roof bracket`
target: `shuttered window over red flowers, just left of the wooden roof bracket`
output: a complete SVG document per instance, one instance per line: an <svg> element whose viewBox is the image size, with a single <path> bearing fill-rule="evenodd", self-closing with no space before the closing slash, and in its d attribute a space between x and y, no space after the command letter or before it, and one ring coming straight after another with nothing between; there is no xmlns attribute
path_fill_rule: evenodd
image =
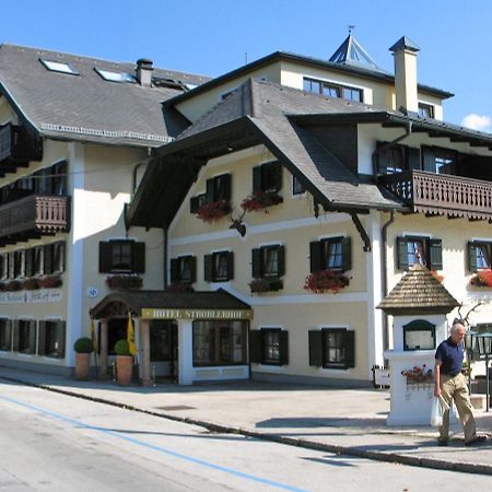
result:
<svg viewBox="0 0 492 492"><path fill-rule="evenodd" d="M329 237L309 243L311 272L350 270L352 268L351 243L350 237Z"/></svg>

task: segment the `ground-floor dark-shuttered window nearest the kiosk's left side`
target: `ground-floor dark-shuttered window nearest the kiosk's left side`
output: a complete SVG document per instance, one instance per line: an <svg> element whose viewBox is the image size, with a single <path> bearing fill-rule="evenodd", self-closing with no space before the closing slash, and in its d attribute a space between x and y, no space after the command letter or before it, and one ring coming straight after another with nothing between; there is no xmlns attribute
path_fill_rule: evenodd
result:
<svg viewBox="0 0 492 492"><path fill-rule="evenodd" d="M309 331L309 365L345 370L355 367L355 333L347 328Z"/></svg>

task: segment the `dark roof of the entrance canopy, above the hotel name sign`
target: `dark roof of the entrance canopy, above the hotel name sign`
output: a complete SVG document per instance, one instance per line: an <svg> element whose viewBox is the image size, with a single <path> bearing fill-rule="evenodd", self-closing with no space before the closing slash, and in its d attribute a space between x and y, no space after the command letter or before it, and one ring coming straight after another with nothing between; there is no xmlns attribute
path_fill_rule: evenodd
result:
<svg viewBox="0 0 492 492"><path fill-rule="evenodd" d="M98 317L113 303L122 303L137 316L142 308L171 309L250 309L249 304L219 289L218 291L165 292L165 291L121 291L106 295L92 309L91 315Z"/></svg>

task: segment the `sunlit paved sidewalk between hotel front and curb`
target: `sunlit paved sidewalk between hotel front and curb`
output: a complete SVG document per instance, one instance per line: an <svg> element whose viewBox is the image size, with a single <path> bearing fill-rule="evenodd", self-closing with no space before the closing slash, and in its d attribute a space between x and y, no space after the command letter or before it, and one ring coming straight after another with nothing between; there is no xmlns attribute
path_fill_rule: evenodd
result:
<svg viewBox="0 0 492 492"><path fill-rule="evenodd" d="M389 393L256 382L196 386L162 384L124 388L113 382L0 367L0 379L40 386L118 405L211 432L234 432L326 452L383 461L492 475L492 438L466 447L460 429L437 447L432 427L387 427ZM492 411L476 411L479 432L492 432Z"/></svg>

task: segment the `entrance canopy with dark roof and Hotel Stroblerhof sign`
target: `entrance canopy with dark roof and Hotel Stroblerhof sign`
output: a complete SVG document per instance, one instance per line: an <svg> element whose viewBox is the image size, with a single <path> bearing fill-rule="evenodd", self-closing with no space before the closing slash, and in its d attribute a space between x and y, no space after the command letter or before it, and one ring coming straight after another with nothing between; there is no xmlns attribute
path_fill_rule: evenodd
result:
<svg viewBox="0 0 492 492"><path fill-rule="evenodd" d="M91 309L95 319L126 316L141 319L251 319L249 304L219 289L201 292L121 291L106 295Z"/></svg>

